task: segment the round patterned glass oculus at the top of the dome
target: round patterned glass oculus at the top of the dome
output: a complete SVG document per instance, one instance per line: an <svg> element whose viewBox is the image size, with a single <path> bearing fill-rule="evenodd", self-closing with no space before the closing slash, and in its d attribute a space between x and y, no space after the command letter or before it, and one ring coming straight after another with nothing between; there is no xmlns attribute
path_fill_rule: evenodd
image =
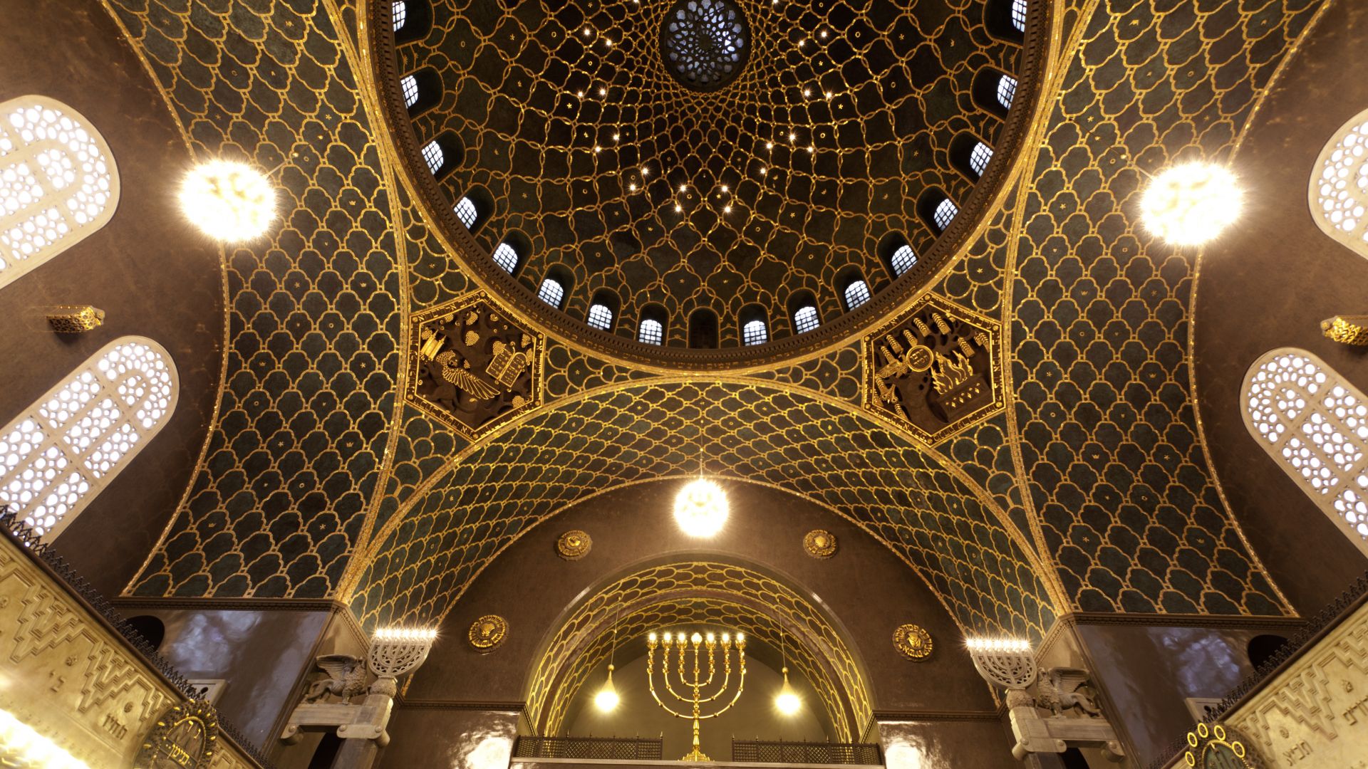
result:
<svg viewBox="0 0 1368 769"><path fill-rule="evenodd" d="M688 88L722 88L741 71L748 53L746 16L728 0L680 0L661 22L661 56Z"/></svg>

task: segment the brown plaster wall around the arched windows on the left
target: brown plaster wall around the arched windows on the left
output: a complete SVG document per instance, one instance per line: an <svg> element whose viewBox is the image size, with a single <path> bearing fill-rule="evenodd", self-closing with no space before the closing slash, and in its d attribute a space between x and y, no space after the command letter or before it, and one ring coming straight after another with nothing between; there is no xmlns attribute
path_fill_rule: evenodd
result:
<svg viewBox="0 0 1368 769"><path fill-rule="evenodd" d="M85 115L109 144L122 181L104 229L0 289L0 424L126 334L161 343L181 378L171 421L57 539L57 550L112 595L152 550L204 445L223 360L219 249L175 205L174 179L189 151L100 3L0 3L0 101L44 94ZM55 304L98 307L105 324L59 337L42 316Z"/></svg>

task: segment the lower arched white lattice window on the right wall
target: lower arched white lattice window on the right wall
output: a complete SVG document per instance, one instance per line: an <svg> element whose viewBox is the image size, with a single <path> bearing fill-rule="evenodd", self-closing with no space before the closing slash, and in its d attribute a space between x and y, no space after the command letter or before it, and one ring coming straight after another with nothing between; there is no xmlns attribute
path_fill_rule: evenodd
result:
<svg viewBox="0 0 1368 769"><path fill-rule="evenodd" d="M1245 375L1245 427L1368 554L1368 397L1306 350L1265 353Z"/></svg>

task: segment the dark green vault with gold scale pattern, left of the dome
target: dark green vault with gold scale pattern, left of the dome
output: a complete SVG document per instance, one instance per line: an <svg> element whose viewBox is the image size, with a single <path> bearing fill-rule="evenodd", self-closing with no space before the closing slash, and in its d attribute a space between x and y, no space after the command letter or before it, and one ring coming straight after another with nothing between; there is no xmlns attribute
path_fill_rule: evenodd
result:
<svg viewBox="0 0 1368 769"><path fill-rule="evenodd" d="M196 155L278 168L286 212L269 239L227 255L219 419L187 502L129 590L330 595L390 438L402 290L391 190L331 8L107 4Z"/></svg>

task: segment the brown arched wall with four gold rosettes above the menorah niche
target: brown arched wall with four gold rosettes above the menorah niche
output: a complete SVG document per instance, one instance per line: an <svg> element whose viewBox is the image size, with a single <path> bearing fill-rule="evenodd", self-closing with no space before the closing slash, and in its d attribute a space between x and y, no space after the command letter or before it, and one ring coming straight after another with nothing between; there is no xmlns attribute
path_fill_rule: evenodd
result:
<svg viewBox="0 0 1368 769"><path fill-rule="evenodd" d="M680 482L632 486L588 499L538 525L497 558L447 614L432 654L415 675L408 698L424 701L521 701L536 651L581 594L644 556L722 556L759 564L836 617L862 658L876 710L977 710L995 707L973 669L953 620L926 584L891 550L847 520L798 497L746 483L726 483L732 516L714 539L681 534L672 517ZM579 561L555 556L555 539L580 528L594 539ZM830 560L808 557L803 535L826 528L840 549ZM642 543L650 543L642 550ZM508 640L476 653L466 629L482 614L501 614ZM925 627L934 657L915 664L897 654L893 629ZM624 643L627 643L624 640Z"/></svg>

